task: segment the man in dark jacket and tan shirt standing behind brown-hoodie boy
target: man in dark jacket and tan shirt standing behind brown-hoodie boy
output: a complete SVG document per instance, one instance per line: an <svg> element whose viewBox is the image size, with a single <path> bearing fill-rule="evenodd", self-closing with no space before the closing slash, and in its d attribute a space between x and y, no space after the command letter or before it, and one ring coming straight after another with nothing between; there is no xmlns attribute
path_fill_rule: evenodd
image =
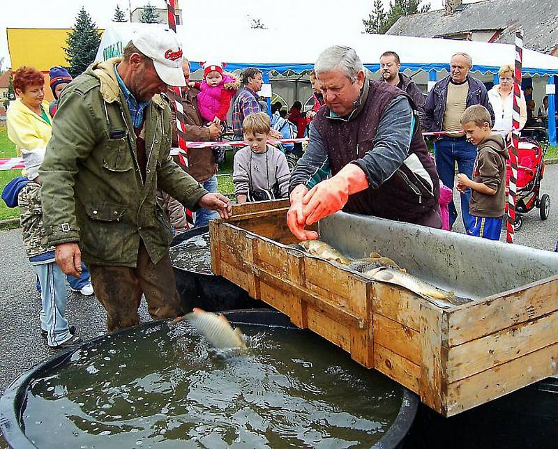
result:
<svg viewBox="0 0 558 449"><path fill-rule="evenodd" d="M476 146L467 142L462 132L461 116L467 107L482 105L490 113L494 124L494 111L488 100L483 82L469 75L473 67L471 56L467 53L456 53L451 56L450 75L435 84L424 107L425 131L446 131L451 134L439 138L434 146L436 151L436 167L442 183L453 190L455 162L460 173L469 178L473 173L476 158ZM461 214L465 230L469 226L470 190L461 194ZM457 211L453 201L449 204L450 227L457 219Z"/></svg>

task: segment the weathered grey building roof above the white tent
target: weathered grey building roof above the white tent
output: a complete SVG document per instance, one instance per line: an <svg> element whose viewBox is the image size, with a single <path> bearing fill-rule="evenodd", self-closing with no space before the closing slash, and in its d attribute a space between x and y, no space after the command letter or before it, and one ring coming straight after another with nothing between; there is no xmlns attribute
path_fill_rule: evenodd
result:
<svg viewBox="0 0 558 449"><path fill-rule="evenodd" d="M428 11L399 18L387 34L435 38L470 31L501 31L495 43L513 44L522 27L525 48L558 52L558 9L554 0L485 0L465 3L453 14Z"/></svg>

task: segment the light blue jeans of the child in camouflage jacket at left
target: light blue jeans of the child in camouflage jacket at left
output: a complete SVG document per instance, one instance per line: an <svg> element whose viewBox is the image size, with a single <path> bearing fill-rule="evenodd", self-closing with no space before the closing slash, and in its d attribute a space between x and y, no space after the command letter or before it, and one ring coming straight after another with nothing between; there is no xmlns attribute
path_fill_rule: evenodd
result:
<svg viewBox="0 0 558 449"><path fill-rule="evenodd" d="M66 314L68 295L66 292L66 275L56 262L33 265L40 282L40 299L43 308L40 311L40 328L47 331L47 343L56 346L69 340L70 330Z"/></svg>

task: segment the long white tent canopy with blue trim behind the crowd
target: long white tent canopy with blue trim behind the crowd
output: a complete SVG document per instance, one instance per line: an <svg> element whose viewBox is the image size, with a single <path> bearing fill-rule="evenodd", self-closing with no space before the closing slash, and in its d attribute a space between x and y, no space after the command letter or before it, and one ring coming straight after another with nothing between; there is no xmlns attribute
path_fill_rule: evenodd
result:
<svg viewBox="0 0 558 449"><path fill-rule="evenodd" d="M121 49L133 33L146 27L163 24L113 24L103 33L97 53L102 61L119 56ZM451 55L467 52L472 56L474 70L497 73L500 66L513 64L513 45L469 42L463 40L413 38L407 36L371 35L355 30L352 34L335 34L329 29L317 29L312 34L282 35L266 29L220 29L207 33L193 26L178 26L177 33L183 43L184 54L192 63L193 70L199 61L211 59L227 63L227 70L255 66L264 71L285 73L292 70L301 73L311 70L319 53L329 45L340 44L353 47L361 60L375 71L379 56L386 50L399 54L402 68L410 70L444 70L448 68ZM210 37L211 36L211 37ZM529 75L558 75L558 58L532 50L523 52L523 73Z"/></svg>

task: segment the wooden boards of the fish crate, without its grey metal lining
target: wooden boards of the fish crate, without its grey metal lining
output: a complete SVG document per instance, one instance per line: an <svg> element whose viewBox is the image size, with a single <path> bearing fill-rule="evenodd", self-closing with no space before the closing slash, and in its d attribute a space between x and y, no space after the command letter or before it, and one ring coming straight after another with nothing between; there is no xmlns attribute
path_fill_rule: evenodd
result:
<svg viewBox="0 0 558 449"><path fill-rule="evenodd" d="M444 416L558 374L558 276L441 309L285 245L288 201L210 224L213 272L420 395Z"/></svg>

